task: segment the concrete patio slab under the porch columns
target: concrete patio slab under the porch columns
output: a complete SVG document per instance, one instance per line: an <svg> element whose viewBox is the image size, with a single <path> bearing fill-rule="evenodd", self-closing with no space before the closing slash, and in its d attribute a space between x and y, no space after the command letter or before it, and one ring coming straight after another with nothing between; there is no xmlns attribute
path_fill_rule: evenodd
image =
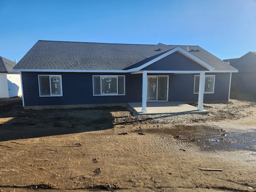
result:
<svg viewBox="0 0 256 192"><path fill-rule="evenodd" d="M197 107L182 102L147 102L147 112L142 113L142 103L128 103L140 115L153 114L207 114L208 110L197 110Z"/></svg>

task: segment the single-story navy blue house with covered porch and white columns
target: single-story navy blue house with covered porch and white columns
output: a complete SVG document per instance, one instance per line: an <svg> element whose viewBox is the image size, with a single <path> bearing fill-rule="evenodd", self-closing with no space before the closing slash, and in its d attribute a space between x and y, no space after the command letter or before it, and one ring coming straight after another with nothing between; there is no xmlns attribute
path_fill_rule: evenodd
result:
<svg viewBox="0 0 256 192"><path fill-rule="evenodd" d="M23 105L227 102L236 68L199 46L38 41L14 67ZM205 93L205 94L204 94Z"/></svg>

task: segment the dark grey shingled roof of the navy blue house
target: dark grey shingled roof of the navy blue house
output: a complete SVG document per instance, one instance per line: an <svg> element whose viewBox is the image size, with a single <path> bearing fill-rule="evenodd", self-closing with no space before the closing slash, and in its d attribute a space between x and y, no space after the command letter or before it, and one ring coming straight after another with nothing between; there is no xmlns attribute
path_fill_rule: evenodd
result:
<svg viewBox="0 0 256 192"><path fill-rule="evenodd" d="M16 71L127 70L145 64L177 45L107 44L39 40L14 67ZM236 70L200 46L180 46L218 70Z"/></svg>

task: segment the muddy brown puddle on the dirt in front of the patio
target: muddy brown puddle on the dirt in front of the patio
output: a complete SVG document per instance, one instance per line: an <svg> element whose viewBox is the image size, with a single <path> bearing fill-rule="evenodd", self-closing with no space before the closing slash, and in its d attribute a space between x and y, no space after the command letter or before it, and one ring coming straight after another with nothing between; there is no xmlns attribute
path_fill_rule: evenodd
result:
<svg viewBox="0 0 256 192"><path fill-rule="evenodd" d="M255 132L228 134L225 130L212 126L174 126L136 129L135 133L171 135L176 140L193 142L198 146L216 148L237 148L256 151Z"/></svg>

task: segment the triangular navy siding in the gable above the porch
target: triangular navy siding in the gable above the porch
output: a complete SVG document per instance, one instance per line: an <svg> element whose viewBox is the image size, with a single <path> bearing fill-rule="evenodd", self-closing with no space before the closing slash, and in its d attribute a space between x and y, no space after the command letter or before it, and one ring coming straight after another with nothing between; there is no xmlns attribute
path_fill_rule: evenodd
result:
<svg viewBox="0 0 256 192"><path fill-rule="evenodd" d="M145 67L142 70L169 70L169 71L188 71L188 70L203 70L208 71L200 64L194 62L190 58L174 52L157 62Z"/></svg>

